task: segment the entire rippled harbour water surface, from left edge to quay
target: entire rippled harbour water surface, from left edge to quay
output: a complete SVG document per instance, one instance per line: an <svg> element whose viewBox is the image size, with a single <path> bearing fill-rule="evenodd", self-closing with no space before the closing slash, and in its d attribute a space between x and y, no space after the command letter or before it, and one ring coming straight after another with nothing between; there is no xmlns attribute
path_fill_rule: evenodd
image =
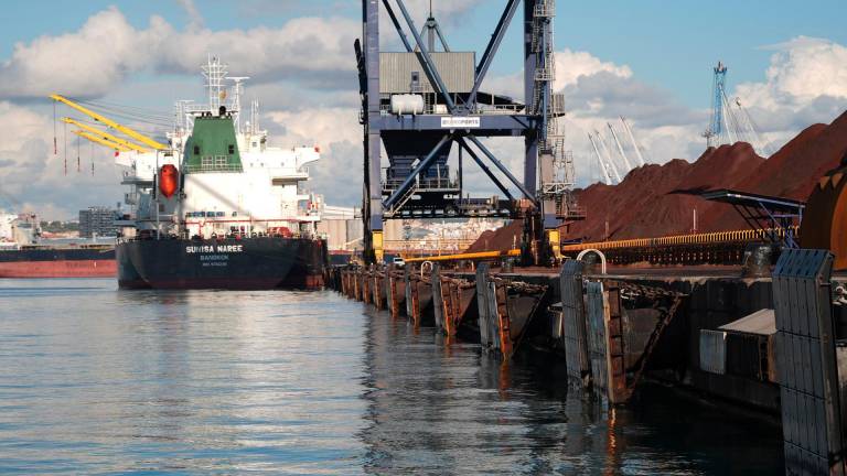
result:
<svg viewBox="0 0 847 476"><path fill-rule="evenodd" d="M773 423L650 387L605 410L536 360L329 291L0 281L0 473L782 472Z"/></svg>

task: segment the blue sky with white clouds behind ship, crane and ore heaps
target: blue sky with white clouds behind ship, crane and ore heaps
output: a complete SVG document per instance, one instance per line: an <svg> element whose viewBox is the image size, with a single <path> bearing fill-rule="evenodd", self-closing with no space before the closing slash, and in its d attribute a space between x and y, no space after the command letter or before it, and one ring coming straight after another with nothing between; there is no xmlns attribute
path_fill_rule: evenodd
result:
<svg viewBox="0 0 847 476"><path fill-rule="evenodd" d="M428 2L406 2L422 23ZM451 48L475 51L478 58L504 4L432 1ZM774 0L556 4L555 86L566 97L562 128L579 185L601 176L587 133L604 130L619 116L630 120L650 162L695 160L705 150L701 133L718 61L729 67L728 93L746 105L770 151L847 109L843 0L806 1L803 9ZM202 100L200 65L208 54L228 63L230 74L250 76L246 95L261 101L261 126L274 145L321 145L323 158L311 167L315 192L334 205L360 204L352 46L361 34L358 1L39 1L4 13L0 207L66 219L81 208L121 201L121 171L111 153L88 144L77 151L72 139L65 145L66 132L55 126L45 96L57 91L163 117L178 99ZM484 90L518 99L519 17L483 84ZM397 51L390 23L383 23L382 33L384 50ZM519 176L522 141L487 142ZM465 173L470 192L494 192L480 171Z"/></svg>

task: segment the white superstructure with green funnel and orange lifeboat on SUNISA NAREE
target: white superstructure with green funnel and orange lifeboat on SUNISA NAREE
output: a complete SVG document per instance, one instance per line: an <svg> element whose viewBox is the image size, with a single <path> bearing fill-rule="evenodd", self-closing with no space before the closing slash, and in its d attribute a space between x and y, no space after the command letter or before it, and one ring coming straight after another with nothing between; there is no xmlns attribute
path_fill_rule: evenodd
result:
<svg viewBox="0 0 847 476"><path fill-rule="evenodd" d="M270 147L259 128L258 102L242 115L247 78L227 77L215 57L203 71L208 104L176 104L167 150L116 155L126 167L122 183L130 186L124 236L314 235L322 199L304 184L320 150Z"/></svg>

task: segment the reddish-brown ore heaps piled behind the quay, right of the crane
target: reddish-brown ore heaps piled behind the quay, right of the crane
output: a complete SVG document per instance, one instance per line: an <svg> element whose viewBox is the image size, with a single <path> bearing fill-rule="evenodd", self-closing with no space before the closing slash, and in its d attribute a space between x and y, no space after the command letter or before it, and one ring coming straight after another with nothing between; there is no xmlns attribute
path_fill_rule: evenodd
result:
<svg viewBox="0 0 847 476"><path fill-rule="evenodd" d="M585 221L570 226L562 239L601 241L746 229L747 225L727 204L696 196L699 192L733 188L762 195L805 201L818 178L838 165L847 151L847 112L832 125L813 125L789 141L768 160L750 144L737 142L708 149L695 162L675 159L630 172L618 185L593 184L576 192L588 212ZM608 236L607 236L608 221ZM521 239L519 224L483 234L469 250L512 248ZM564 230L562 230L564 231Z"/></svg>

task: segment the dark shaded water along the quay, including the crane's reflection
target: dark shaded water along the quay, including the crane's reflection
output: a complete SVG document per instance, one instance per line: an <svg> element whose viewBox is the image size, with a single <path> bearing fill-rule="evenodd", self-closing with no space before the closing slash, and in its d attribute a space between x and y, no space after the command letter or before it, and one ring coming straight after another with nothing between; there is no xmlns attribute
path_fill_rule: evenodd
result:
<svg viewBox="0 0 847 476"><path fill-rule="evenodd" d="M626 407L567 385L562 363L503 364L476 345L371 312L367 473L774 474L778 424L646 385Z"/></svg>

